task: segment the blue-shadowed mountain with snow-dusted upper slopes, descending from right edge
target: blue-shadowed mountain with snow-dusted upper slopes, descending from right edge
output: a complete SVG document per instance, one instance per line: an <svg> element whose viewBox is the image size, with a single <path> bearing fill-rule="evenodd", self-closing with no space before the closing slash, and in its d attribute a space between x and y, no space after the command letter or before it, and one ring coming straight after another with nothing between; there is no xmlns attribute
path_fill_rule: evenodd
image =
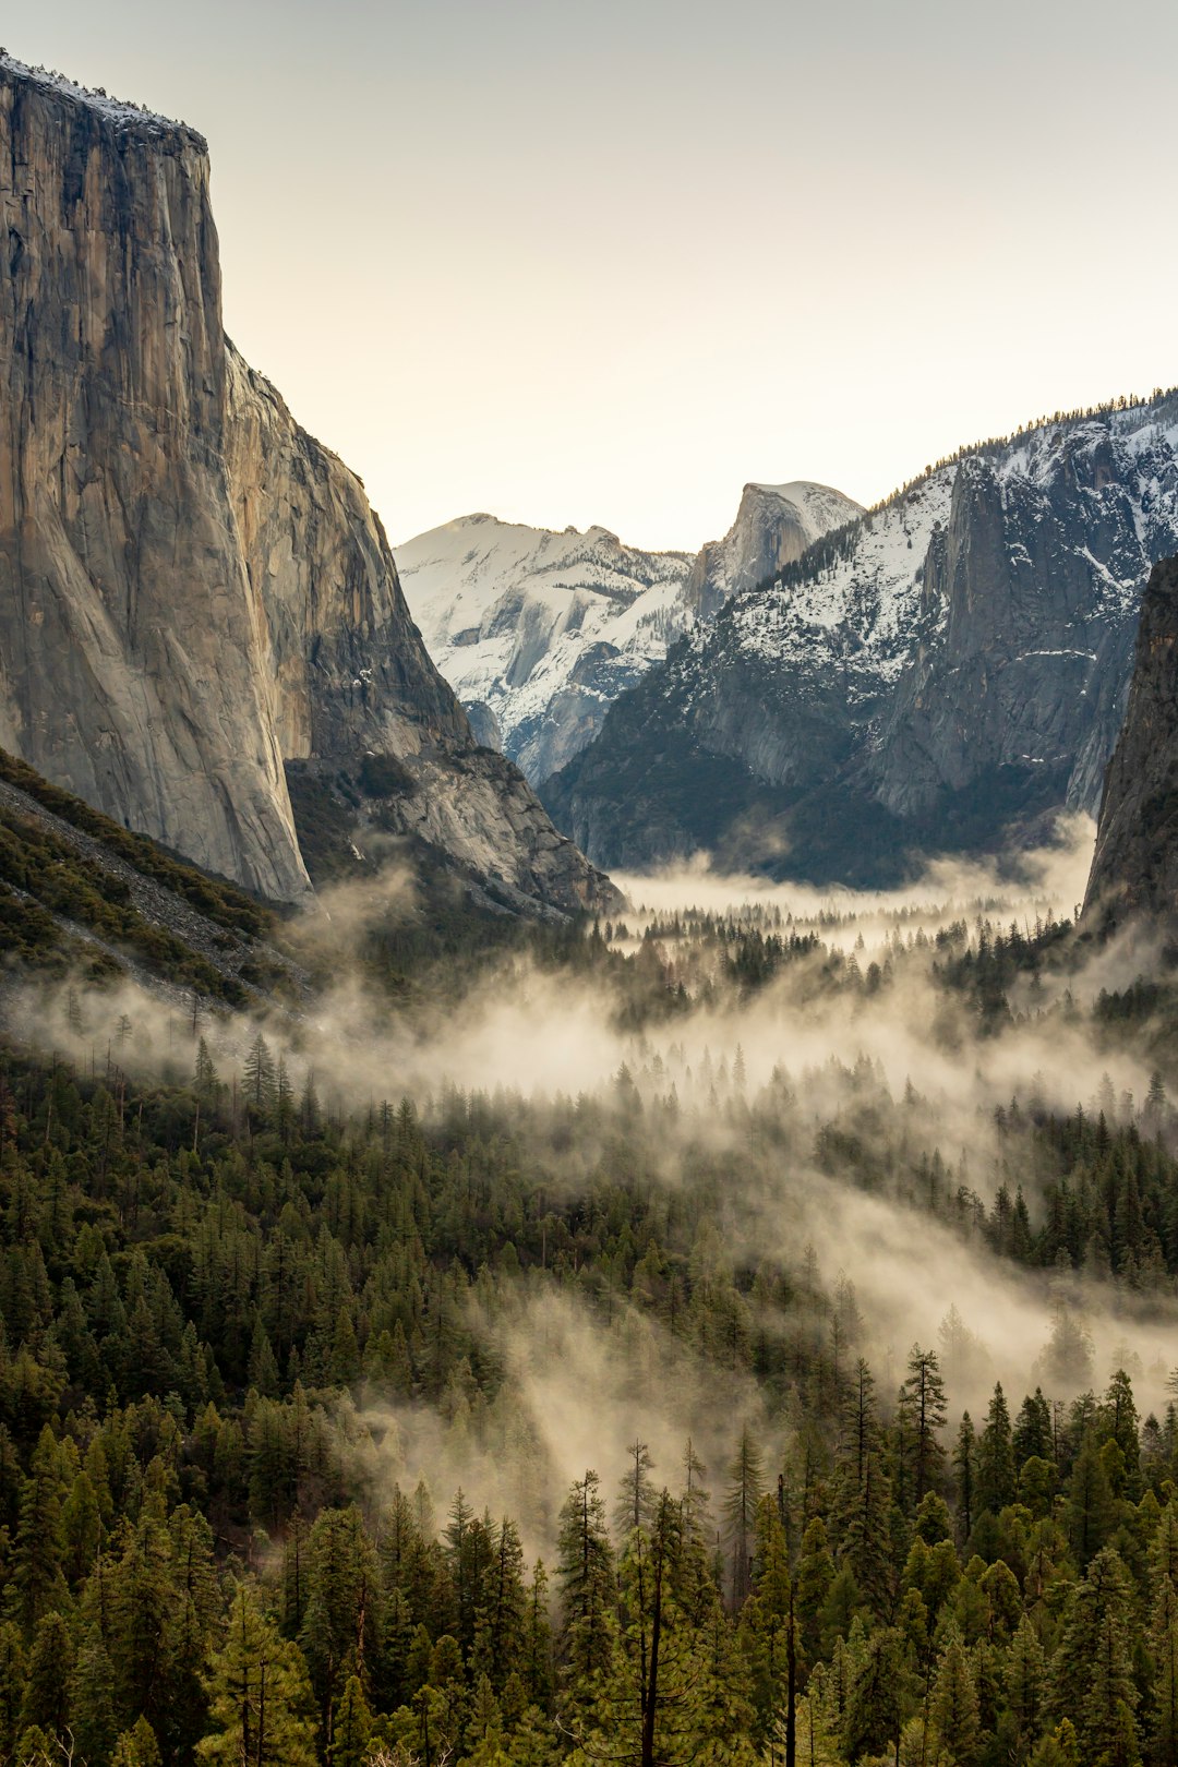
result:
<svg viewBox="0 0 1178 1767"><path fill-rule="evenodd" d="M1176 546L1174 392L964 451L687 634L546 802L600 864L862 884L1095 811Z"/></svg>

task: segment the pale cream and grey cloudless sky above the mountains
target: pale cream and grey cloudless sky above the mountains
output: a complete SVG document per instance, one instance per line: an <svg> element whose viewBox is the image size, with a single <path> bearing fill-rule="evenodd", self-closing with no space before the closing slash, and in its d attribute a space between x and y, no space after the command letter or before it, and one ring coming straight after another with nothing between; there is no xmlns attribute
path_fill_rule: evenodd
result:
<svg viewBox="0 0 1178 1767"><path fill-rule="evenodd" d="M394 542L862 502L1178 382L1173 0L55 0L208 136L224 318Z"/></svg>

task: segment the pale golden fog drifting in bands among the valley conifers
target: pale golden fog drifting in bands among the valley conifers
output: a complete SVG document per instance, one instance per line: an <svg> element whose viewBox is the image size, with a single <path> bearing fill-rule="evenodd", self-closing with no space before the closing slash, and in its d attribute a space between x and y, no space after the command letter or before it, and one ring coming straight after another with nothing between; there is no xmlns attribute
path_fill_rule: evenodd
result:
<svg viewBox="0 0 1178 1767"><path fill-rule="evenodd" d="M694 998L639 1034L620 1028L616 993L600 968L553 972L519 958L482 974L457 1005L412 1012L376 1000L359 970L337 965L341 981L306 1020L274 1014L261 1028L295 1092L311 1071L327 1101L366 1108L408 1096L426 1119L452 1110L456 1088L487 1094L491 1108L498 1099L514 1111L514 1133L533 1138L537 1182L547 1186L588 1180L599 1133L588 1129L581 1141L574 1134L569 1145L549 1133L555 1115L567 1117L574 1099L599 1099L613 1110L622 1092L631 1103L638 1097L657 1117L659 1182L668 1191L699 1150L729 1172L724 1256L797 1265L809 1244L830 1292L839 1281L853 1285L885 1396L920 1341L943 1352L954 1412L984 1408L994 1378L1017 1405L1040 1378L1040 1357L1063 1309L1090 1332L1091 1380L1102 1385L1123 1364L1143 1410L1157 1408L1178 1362L1169 1279L1148 1295L1129 1295L1081 1272L1023 1274L977 1237L911 1207L894 1184L848 1182L837 1159L816 1154L816 1138L830 1124L876 1136L880 1150L899 1154L908 1168L936 1150L947 1182L977 1191L987 1205L1003 1177L1012 1193L1023 1182L1035 1225L1033 1175L1000 1168L996 1106L1017 1096L1024 1106L1037 1101L1060 1113L1104 1108L1121 1122L1134 1119L1150 1083L1148 1064L1099 1048L1090 1007L1102 988L1150 972L1148 945L1123 940L1070 974L1053 972L1037 984L1021 979L1010 995L1012 1021L985 1035L966 997L947 993L933 974L943 961L936 933L954 922L964 921L973 937L984 919L1026 931L1072 919L1091 843L1091 822L1070 818L1054 845L1019 853L1014 869L936 862L911 889L885 894L719 876L706 861L618 878L632 905L608 929L620 951L638 951L648 929L661 929L661 958L675 965L701 915L752 919L786 938L816 933L821 942L759 991L715 986L706 1000ZM387 892L369 885L364 894L328 896L327 906L328 931L307 937L330 937L336 956L373 912L413 912L404 880ZM832 951L842 954L839 986L825 984ZM872 965L878 972L867 984ZM855 972L862 986L848 981ZM1065 990L1069 1011L1058 1011ZM25 1034L99 1066L122 1014L132 1025L117 1048L124 1067L191 1073L193 1027L140 988L81 1000L74 990L69 1007L62 988L51 997L30 993L19 1007ZM258 1021L207 1016L200 1030L228 1078L240 1071ZM565 1477L586 1461L616 1465L638 1431L657 1447L662 1475L671 1479L675 1444L689 1433L706 1444L721 1426L731 1433L733 1417L759 1405L751 1382L719 1382L648 1318L608 1323L521 1285L514 1316L500 1315L487 1329L502 1334L517 1398L502 1452L510 1461L512 1431L532 1451L540 1440ZM556 1343L558 1355L537 1357L540 1339ZM653 1385L620 1378L618 1369L634 1359L657 1371ZM572 1401L553 1391L555 1366L562 1384L576 1371L572 1412ZM1058 1382L1054 1396L1069 1396ZM436 1456L438 1419L394 1417L380 1407L373 1417L381 1454L399 1474ZM784 1435L791 1421L763 1424ZM503 1475L514 1477L510 1468ZM470 1475L464 1483L472 1484Z"/></svg>

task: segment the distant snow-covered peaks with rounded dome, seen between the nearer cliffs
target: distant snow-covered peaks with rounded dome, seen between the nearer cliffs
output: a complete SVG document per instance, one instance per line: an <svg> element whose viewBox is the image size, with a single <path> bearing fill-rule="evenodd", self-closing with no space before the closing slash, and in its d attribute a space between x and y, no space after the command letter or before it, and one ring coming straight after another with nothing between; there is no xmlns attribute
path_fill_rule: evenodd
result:
<svg viewBox="0 0 1178 1767"><path fill-rule="evenodd" d="M858 514L841 491L747 484L722 541L643 551L593 527L463 516L396 548L410 611L482 742L546 779L618 694L724 601Z"/></svg>

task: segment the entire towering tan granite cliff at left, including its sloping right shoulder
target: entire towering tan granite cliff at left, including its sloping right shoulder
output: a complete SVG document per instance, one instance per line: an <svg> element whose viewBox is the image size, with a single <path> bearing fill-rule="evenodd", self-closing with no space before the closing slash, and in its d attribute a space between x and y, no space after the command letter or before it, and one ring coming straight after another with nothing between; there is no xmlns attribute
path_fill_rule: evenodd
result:
<svg viewBox="0 0 1178 1767"><path fill-rule="evenodd" d="M0 58L0 744L261 896L286 765L397 760L389 827L570 912L613 892L486 756L359 479L228 345L201 136Z"/></svg>

